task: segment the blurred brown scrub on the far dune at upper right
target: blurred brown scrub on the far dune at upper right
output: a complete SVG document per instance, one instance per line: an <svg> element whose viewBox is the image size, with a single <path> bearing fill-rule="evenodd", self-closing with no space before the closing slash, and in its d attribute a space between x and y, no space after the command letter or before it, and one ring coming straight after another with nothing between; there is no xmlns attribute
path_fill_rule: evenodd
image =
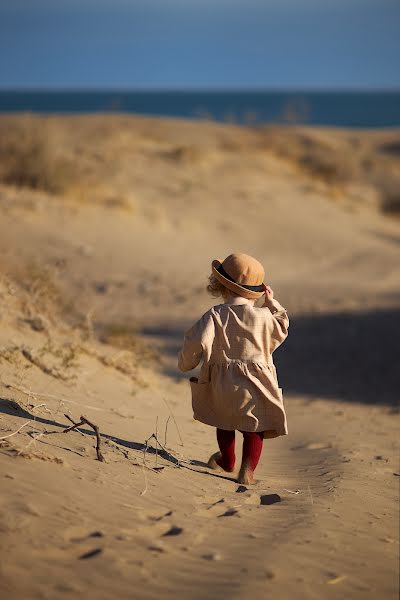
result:
<svg viewBox="0 0 400 600"><path fill-rule="evenodd" d="M293 162L312 179L344 193L365 193L376 208L400 214L400 133L266 127L263 146ZM385 135L385 134L383 134Z"/></svg>

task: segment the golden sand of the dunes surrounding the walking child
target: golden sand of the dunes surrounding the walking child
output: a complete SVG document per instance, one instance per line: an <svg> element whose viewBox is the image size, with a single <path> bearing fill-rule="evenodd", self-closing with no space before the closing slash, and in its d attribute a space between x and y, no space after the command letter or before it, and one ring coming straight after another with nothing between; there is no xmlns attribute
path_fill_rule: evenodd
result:
<svg viewBox="0 0 400 600"><path fill-rule="evenodd" d="M400 225L380 182L398 132L40 123L75 175L0 185L2 595L397 598ZM352 169L305 167L304 136ZM176 365L232 251L291 318L289 435L248 488L207 468L215 432ZM99 427L104 462L65 415Z"/></svg>

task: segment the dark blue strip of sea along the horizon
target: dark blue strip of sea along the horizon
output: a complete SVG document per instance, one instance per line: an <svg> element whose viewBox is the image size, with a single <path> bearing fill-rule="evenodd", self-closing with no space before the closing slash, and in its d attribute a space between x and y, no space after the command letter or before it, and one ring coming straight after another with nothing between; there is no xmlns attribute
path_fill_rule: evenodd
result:
<svg viewBox="0 0 400 600"><path fill-rule="evenodd" d="M124 112L240 124L400 126L394 92L0 91L0 112Z"/></svg>

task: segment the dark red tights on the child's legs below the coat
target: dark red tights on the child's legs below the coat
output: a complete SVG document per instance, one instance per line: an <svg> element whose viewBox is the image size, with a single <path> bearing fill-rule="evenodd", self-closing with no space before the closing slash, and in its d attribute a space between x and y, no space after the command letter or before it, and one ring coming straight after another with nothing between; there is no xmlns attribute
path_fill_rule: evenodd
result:
<svg viewBox="0 0 400 600"><path fill-rule="evenodd" d="M241 431L243 434L243 464L249 465L254 471L260 460L261 450L264 440L262 431ZM218 446L221 451L221 458L217 459L217 464L224 471L233 471L235 468L235 432L217 429Z"/></svg>

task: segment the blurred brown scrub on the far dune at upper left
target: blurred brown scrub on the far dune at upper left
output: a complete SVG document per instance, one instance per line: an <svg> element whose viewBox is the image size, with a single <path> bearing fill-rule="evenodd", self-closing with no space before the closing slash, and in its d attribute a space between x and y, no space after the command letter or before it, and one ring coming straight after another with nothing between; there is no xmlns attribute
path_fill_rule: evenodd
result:
<svg viewBox="0 0 400 600"><path fill-rule="evenodd" d="M63 117L0 118L0 182L79 202L131 208L129 193L121 193L115 182L110 185L104 163L114 165L116 155L101 156L106 141L101 133L84 134L82 139L79 123Z"/></svg>

